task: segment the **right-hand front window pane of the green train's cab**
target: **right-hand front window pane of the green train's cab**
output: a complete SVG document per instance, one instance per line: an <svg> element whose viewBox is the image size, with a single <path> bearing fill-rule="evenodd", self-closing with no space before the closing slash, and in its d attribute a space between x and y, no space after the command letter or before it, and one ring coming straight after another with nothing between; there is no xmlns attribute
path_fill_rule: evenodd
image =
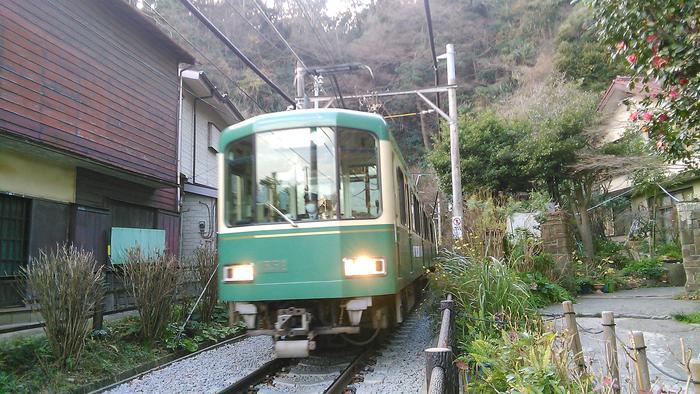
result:
<svg viewBox="0 0 700 394"><path fill-rule="evenodd" d="M340 217L378 217L382 207L377 139L367 131L341 128L338 152Z"/></svg>

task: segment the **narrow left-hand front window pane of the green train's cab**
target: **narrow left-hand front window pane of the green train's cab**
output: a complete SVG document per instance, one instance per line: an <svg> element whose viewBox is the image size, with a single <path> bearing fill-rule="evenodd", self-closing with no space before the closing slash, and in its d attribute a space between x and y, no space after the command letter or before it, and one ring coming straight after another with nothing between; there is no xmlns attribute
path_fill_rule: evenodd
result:
<svg viewBox="0 0 700 394"><path fill-rule="evenodd" d="M229 225L253 222L253 136L226 151L226 219Z"/></svg>

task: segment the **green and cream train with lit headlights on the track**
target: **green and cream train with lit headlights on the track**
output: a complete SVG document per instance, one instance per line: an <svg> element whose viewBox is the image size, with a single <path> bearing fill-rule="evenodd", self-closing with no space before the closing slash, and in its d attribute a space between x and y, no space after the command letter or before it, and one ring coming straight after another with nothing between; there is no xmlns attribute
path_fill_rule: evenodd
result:
<svg viewBox="0 0 700 394"><path fill-rule="evenodd" d="M402 321L436 232L381 116L279 112L219 142L219 297L249 333L304 357Z"/></svg>

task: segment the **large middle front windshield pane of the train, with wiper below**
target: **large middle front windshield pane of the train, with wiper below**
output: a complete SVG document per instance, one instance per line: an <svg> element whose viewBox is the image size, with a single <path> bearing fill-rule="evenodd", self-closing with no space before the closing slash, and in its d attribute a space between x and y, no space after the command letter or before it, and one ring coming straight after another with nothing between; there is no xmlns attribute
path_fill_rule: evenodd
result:
<svg viewBox="0 0 700 394"><path fill-rule="evenodd" d="M256 135L257 223L337 219L335 138L331 127Z"/></svg>

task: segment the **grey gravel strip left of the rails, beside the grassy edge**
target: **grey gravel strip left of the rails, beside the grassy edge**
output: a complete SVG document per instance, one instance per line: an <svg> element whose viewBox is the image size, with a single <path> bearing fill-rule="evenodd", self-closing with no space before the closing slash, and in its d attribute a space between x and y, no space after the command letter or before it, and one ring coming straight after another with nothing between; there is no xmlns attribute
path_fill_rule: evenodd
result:
<svg viewBox="0 0 700 394"><path fill-rule="evenodd" d="M215 393L274 358L271 337L250 337L173 363L108 393Z"/></svg>

